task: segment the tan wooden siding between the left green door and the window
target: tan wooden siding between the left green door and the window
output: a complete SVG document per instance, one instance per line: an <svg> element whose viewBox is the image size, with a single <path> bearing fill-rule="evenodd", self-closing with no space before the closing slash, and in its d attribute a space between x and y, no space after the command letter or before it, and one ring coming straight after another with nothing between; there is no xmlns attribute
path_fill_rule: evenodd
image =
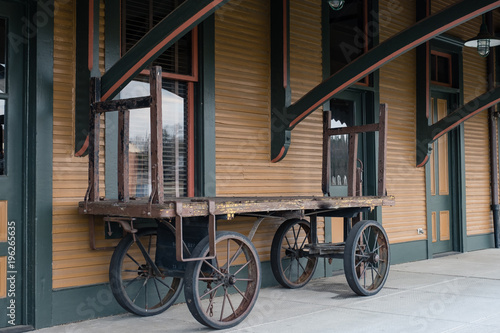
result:
<svg viewBox="0 0 500 333"><path fill-rule="evenodd" d="M110 252L90 250L88 220L79 215L77 210L78 202L83 199L87 189L88 159L77 158L73 154L75 1L56 1L56 4L52 212L54 289L106 282L110 258ZM101 40L103 41L102 36ZM101 54L103 51L101 47ZM101 191L104 191L103 161L104 155L101 156L100 164ZM102 226L98 228L97 234L103 238ZM99 245L103 246L103 243L104 241L100 241Z"/></svg>

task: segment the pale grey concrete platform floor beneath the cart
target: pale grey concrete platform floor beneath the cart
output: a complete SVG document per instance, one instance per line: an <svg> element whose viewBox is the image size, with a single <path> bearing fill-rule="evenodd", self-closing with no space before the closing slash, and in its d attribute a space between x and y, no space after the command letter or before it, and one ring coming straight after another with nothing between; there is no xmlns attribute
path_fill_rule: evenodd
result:
<svg viewBox="0 0 500 333"><path fill-rule="evenodd" d="M119 315L37 332L212 331L178 304L155 317ZM393 265L372 297L356 296L343 275L302 289L265 288L245 321L217 332L500 332L500 249Z"/></svg>

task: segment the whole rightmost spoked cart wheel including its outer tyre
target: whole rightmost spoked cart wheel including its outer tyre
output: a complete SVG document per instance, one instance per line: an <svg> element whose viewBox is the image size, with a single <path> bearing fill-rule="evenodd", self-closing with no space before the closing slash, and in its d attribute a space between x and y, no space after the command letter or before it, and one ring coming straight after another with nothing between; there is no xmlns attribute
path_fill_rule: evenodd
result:
<svg viewBox="0 0 500 333"><path fill-rule="evenodd" d="M349 287L360 296L378 293L389 274L389 242L376 221L356 223L347 236L344 273Z"/></svg>

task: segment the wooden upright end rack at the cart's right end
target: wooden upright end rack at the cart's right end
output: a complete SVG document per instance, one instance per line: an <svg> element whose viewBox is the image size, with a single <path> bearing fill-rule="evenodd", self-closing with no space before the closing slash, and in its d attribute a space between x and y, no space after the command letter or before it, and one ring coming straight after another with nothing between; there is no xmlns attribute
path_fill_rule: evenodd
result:
<svg viewBox="0 0 500 333"><path fill-rule="evenodd" d="M330 195L330 161L331 158L331 140L334 135L349 135L349 156L347 166L347 195L356 196L356 187L359 182L357 173L358 156L358 136L360 133L379 132L378 140L378 196L386 195L386 156L387 156L387 104L380 104L380 117L378 124L368 124L361 126L349 126L342 128L331 128L331 111L323 112L323 172L322 172L322 190L323 194Z"/></svg>

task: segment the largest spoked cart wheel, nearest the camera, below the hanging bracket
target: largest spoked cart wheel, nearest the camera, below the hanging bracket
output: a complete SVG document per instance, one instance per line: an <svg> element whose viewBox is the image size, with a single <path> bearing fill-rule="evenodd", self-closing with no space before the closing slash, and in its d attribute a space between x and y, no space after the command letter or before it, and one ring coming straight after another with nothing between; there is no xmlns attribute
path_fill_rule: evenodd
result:
<svg viewBox="0 0 500 333"><path fill-rule="evenodd" d="M260 289L260 261L250 240L236 232L217 232L216 248L215 259L188 263L184 294L196 320L223 329L238 325L252 311ZM208 255L205 237L193 257Z"/></svg>

